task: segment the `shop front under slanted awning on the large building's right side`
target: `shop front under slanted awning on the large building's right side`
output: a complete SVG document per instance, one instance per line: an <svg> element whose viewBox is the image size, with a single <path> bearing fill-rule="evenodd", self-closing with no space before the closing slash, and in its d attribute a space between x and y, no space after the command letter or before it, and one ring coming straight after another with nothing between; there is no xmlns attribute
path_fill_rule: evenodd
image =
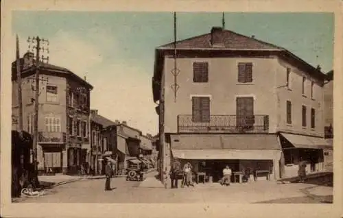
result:
<svg viewBox="0 0 343 218"><path fill-rule="evenodd" d="M324 171L324 149L332 149L324 138L280 133L285 158L284 178L298 175L298 163L307 162L307 173Z"/></svg>

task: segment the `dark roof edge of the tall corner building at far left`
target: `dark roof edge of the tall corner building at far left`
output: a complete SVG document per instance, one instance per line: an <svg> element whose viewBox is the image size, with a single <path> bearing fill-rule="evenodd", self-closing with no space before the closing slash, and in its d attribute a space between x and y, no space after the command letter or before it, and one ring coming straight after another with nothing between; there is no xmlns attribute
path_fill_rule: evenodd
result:
<svg viewBox="0 0 343 218"><path fill-rule="evenodd" d="M21 67L23 67L23 60L24 60L24 58L20 59ZM82 84L85 84L86 86L88 86L88 88L93 89L93 86L91 84L89 84L88 82L86 82L86 80L82 79L81 77L79 77L75 73L71 72L67 68L64 68L62 66L56 66L54 64L47 64L45 62L40 62L39 67L40 67L40 69L45 70L47 72L51 72L51 73L54 72L54 73L57 73L58 75L70 76L73 79L78 80ZM34 71L35 69L36 69L35 65L32 65L27 69L22 69L21 76L27 77L29 75L32 75L35 72ZM12 80L16 80L16 62L15 61L12 62Z"/></svg>

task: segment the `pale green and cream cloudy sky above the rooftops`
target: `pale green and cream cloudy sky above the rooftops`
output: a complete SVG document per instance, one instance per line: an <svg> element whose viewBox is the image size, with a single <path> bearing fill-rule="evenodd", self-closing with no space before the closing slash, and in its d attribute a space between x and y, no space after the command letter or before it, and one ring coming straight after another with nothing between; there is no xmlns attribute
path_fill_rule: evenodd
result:
<svg viewBox="0 0 343 218"><path fill-rule="evenodd" d="M15 34L21 55L27 51L28 36L49 39L49 63L86 76L94 86L91 109L156 134L154 49L174 40L173 19L172 12L14 11L13 48ZM220 12L178 12L177 39L221 25ZM333 68L331 13L225 12L225 27L284 47L312 66L320 64L324 73Z"/></svg>

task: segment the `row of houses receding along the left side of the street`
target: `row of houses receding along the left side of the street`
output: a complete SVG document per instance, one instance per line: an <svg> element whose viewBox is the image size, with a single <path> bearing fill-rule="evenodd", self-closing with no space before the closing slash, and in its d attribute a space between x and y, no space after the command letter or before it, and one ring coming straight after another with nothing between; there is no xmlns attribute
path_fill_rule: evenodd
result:
<svg viewBox="0 0 343 218"><path fill-rule="evenodd" d="M34 64L32 53L25 53L20 59L23 128L29 134L34 132ZM86 171L102 173L105 157L117 161L117 173L123 173L127 157L156 156L151 135L145 136L125 121L113 122L97 114L97 110L91 110L93 86L86 78L43 62L39 69L37 159L40 173L74 174L80 172L81 166L86 167ZM19 129L16 76L16 63L13 62L12 130Z"/></svg>

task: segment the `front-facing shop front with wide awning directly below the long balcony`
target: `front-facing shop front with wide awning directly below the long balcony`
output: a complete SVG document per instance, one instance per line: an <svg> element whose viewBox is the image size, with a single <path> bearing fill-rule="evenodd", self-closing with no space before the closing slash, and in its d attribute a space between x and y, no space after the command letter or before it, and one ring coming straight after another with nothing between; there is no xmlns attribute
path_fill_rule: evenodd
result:
<svg viewBox="0 0 343 218"><path fill-rule="evenodd" d="M275 134L172 135L171 156L182 166L190 162L198 182L217 182L226 165L237 179L254 173L257 180L280 178L281 149Z"/></svg>

